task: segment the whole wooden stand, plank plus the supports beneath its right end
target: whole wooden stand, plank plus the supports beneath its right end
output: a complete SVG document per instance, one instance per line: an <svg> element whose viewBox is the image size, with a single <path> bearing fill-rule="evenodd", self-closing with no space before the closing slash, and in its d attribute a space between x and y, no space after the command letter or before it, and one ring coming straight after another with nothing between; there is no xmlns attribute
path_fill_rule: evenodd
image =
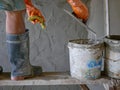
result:
<svg viewBox="0 0 120 90"><path fill-rule="evenodd" d="M105 90L120 90L120 80L103 76L96 80L81 81L64 72L44 72L42 75L26 80L12 81L10 73L0 75L0 86L29 86L29 85L80 85L81 90L90 90L87 84L102 84Z"/></svg>

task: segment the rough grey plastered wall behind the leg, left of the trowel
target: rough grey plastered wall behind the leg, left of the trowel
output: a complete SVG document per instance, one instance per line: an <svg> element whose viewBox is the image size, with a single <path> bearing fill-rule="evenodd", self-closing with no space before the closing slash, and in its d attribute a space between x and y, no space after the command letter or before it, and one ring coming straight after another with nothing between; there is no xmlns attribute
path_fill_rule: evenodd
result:
<svg viewBox="0 0 120 90"><path fill-rule="evenodd" d="M43 12L47 28L42 30L39 24L31 24L26 16L31 63L42 66L44 71L69 71L67 43L70 39L86 38L87 32L63 11L63 7L70 9L65 0L33 0L33 3ZM10 71L5 40L5 13L1 11L0 15L1 65L4 71Z"/></svg>

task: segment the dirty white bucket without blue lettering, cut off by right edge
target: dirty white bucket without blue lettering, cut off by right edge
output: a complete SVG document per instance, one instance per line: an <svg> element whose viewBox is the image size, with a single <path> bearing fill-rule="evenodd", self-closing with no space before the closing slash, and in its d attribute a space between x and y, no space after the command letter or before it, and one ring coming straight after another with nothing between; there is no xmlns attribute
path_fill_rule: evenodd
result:
<svg viewBox="0 0 120 90"><path fill-rule="evenodd" d="M105 71L109 77L120 79L120 35L105 38Z"/></svg>

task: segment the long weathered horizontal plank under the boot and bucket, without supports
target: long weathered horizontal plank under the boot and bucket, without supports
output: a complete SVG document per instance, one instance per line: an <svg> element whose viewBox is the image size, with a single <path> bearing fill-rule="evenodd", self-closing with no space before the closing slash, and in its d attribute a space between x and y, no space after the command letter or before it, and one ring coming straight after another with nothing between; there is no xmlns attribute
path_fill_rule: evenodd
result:
<svg viewBox="0 0 120 90"><path fill-rule="evenodd" d="M109 83L107 77L96 80L81 81L71 77L64 72L44 72L42 75L21 81L10 80L10 73L0 74L0 86L20 86L20 85L76 85L76 84L103 84Z"/></svg>

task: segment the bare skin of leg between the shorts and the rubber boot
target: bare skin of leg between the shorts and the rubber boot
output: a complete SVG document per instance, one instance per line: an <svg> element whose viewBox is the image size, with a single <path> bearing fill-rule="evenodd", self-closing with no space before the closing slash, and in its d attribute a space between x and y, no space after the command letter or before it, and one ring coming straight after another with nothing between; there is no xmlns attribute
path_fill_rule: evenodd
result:
<svg viewBox="0 0 120 90"><path fill-rule="evenodd" d="M6 11L6 33L22 34L25 32L25 10Z"/></svg>

